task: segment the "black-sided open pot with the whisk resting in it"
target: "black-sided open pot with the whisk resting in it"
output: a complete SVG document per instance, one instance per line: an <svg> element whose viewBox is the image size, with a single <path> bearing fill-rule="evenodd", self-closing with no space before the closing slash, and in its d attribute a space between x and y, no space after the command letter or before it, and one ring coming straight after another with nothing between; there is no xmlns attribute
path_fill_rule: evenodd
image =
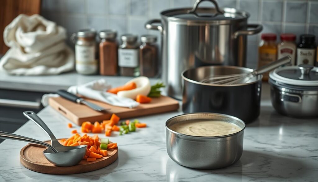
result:
<svg viewBox="0 0 318 182"><path fill-rule="evenodd" d="M211 112L238 117L250 123L259 116L262 76L255 76L245 84L208 84L200 82L216 75L252 72L236 66L203 66L185 70L183 78L182 111L184 113Z"/></svg>

